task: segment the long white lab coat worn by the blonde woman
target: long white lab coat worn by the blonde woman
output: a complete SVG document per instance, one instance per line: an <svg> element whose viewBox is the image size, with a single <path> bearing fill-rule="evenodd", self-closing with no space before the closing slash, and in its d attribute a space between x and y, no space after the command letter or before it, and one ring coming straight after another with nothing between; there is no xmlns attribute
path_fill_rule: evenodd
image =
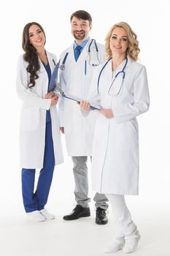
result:
<svg viewBox="0 0 170 256"><path fill-rule="evenodd" d="M106 118L98 113L93 140L92 187L104 194L137 195L139 135L136 116L148 110L150 99L146 69L130 59L122 86L117 77L108 94L115 75L124 65L125 61L112 73L112 61L109 61L101 73L98 100L102 108L112 109L114 117ZM98 97L96 80L100 69L93 77L90 91L93 100ZM115 95L116 91L120 93Z"/></svg>

